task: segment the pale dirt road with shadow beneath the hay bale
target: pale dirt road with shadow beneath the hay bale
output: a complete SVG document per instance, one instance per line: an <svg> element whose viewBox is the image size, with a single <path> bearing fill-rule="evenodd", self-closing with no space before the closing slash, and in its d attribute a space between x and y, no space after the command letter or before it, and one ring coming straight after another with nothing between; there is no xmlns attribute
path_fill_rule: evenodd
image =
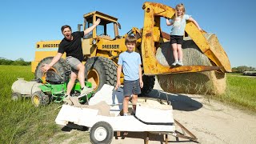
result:
<svg viewBox="0 0 256 144"><path fill-rule="evenodd" d="M256 114L247 114L221 102L208 101L201 95L166 94L158 82L150 97L168 98L174 118L186 126L200 143L256 143ZM182 130L177 129L179 132ZM128 133L126 138L113 139L114 144L144 143L146 133ZM150 134L150 144L164 143L162 135ZM169 143L195 143L169 137Z"/></svg>

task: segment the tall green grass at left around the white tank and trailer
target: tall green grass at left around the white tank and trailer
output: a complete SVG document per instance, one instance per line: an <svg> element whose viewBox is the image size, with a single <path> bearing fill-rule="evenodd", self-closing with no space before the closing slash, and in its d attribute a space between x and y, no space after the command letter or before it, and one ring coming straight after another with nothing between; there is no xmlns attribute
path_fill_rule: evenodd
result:
<svg viewBox="0 0 256 144"><path fill-rule="evenodd" d="M49 143L50 139L50 143L57 142L54 135L66 135L66 132L62 131L62 126L54 122L59 111L54 109L60 104L51 103L49 106L34 107L30 98L12 101L11 86L17 78L32 80L34 74L31 73L30 66L0 65L0 142ZM69 134L71 137L74 135ZM84 142L89 142L89 137L83 138Z"/></svg>

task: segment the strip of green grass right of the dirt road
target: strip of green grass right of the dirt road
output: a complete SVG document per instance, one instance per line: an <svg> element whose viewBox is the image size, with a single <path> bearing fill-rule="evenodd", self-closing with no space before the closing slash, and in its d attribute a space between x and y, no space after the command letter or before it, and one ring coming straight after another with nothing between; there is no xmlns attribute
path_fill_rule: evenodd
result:
<svg viewBox="0 0 256 144"><path fill-rule="evenodd" d="M241 74L227 74L226 94L218 95L218 100L245 110L256 111L256 77Z"/></svg>

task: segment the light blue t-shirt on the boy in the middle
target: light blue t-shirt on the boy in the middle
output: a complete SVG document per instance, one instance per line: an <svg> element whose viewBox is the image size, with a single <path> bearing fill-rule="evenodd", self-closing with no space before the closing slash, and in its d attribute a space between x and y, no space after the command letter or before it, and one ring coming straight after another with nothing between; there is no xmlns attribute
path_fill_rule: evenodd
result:
<svg viewBox="0 0 256 144"><path fill-rule="evenodd" d="M118 58L118 65L122 65L125 80L138 80L138 66L142 64L141 56L137 52L122 52Z"/></svg>

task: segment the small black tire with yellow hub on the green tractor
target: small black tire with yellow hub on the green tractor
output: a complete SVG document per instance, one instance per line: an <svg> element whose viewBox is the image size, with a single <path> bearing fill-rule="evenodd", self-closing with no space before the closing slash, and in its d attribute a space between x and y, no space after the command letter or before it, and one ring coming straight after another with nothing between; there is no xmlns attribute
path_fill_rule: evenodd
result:
<svg viewBox="0 0 256 144"><path fill-rule="evenodd" d="M42 91L36 91L31 97L34 106L46 106L49 104L49 96Z"/></svg>

